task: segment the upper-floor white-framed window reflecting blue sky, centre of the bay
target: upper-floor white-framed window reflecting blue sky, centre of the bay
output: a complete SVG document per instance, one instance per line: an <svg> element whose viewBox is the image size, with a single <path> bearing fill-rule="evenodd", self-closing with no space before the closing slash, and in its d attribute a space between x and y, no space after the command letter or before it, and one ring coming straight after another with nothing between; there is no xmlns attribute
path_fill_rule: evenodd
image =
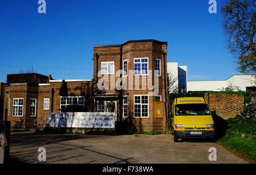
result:
<svg viewBox="0 0 256 175"><path fill-rule="evenodd" d="M134 59L134 75L147 75L148 72L148 59Z"/></svg>

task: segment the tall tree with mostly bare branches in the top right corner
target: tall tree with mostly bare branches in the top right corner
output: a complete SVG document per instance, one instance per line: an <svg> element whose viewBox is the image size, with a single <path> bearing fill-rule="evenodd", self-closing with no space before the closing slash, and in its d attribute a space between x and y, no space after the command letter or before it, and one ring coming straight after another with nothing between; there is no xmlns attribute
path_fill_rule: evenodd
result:
<svg viewBox="0 0 256 175"><path fill-rule="evenodd" d="M224 31L228 38L228 48L238 59L237 70L255 74L255 0L227 0L222 7Z"/></svg>

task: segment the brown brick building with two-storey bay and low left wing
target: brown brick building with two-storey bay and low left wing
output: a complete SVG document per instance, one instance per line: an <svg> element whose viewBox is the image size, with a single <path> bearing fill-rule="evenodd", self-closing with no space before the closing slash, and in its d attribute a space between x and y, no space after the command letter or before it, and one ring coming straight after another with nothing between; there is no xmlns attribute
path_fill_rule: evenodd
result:
<svg viewBox="0 0 256 175"><path fill-rule="evenodd" d="M167 42L133 40L97 45L92 80L7 76L3 116L32 127L49 112L113 112L129 130L164 130L167 122ZM20 78L21 77L21 78Z"/></svg>

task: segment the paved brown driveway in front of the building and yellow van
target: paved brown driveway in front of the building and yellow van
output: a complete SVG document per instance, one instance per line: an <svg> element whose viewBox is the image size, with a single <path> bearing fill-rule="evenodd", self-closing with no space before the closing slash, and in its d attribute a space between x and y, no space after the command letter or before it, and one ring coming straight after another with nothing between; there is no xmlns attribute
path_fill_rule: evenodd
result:
<svg viewBox="0 0 256 175"><path fill-rule="evenodd" d="M71 134L11 134L11 160L38 161L38 148L46 148L44 163L247 163L220 145L208 142L174 143L172 135L90 136ZM217 149L217 161L208 159L209 148Z"/></svg>

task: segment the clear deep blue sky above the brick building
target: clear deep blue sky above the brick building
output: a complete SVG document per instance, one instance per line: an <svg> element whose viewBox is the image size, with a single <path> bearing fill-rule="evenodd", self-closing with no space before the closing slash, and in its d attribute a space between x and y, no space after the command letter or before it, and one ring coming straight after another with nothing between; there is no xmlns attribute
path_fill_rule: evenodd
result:
<svg viewBox="0 0 256 175"><path fill-rule="evenodd" d="M236 71L217 14L208 0L0 1L0 82L31 69L55 79L93 78L93 45L168 41L167 61L188 66L188 80L224 80Z"/></svg>

